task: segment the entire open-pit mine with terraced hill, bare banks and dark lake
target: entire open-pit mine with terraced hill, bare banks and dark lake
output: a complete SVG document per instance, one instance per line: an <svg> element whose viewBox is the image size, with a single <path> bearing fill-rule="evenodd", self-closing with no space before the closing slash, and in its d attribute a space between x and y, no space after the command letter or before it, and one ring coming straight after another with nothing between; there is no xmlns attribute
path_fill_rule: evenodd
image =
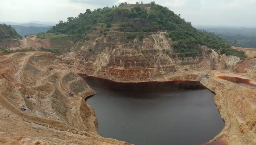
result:
<svg viewBox="0 0 256 145"><path fill-rule="evenodd" d="M0 144L256 144L256 49L166 7L87 9L23 40L2 27Z"/></svg>

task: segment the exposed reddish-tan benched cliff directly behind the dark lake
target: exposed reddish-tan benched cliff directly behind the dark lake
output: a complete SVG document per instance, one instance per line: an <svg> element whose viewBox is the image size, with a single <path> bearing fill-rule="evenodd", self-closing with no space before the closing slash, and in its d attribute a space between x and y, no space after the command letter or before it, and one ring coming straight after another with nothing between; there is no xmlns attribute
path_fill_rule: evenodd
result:
<svg viewBox="0 0 256 145"><path fill-rule="evenodd" d="M100 44L98 44L100 43ZM145 43L147 44L147 43ZM74 66L82 74L93 75L114 81L151 81L152 78L174 75L197 69L229 70L240 62L236 56L219 55L207 46L200 46L200 56L167 54L170 49L129 49L119 44L90 43L74 52ZM120 44L121 45L121 44ZM89 49L94 52L89 52Z"/></svg>

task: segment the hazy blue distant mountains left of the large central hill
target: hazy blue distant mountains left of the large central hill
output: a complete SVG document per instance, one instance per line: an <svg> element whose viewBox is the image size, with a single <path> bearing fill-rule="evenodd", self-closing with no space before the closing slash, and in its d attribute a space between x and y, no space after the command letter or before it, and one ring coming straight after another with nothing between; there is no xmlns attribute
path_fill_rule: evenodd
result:
<svg viewBox="0 0 256 145"><path fill-rule="evenodd" d="M54 26L55 22L40 22L40 21L31 21L26 23L16 23L16 22L0 22L0 24L11 25L18 34L21 36L38 34L41 32L47 32L49 29Z"/></svg>

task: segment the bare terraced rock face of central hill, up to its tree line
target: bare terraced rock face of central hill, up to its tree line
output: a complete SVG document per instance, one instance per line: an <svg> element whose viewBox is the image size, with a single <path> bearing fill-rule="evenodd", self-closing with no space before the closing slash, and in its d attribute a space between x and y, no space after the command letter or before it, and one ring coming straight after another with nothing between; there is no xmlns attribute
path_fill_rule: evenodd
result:
<svg viewBox="0 0 256 145"><path fill-rule="evenodd" d="M165 74L196 69L230 69L240 62L236 56L219 55L206 46L200 46L198 56L174 53L172 40L166 34L151 33L142 40L127 42L129 33L109 31L109 37L100 37L95 32L88 34L90 40L83 46L77 45L70 56L75 58L75 67L83 74L116 81L149 81Z"/></svg>

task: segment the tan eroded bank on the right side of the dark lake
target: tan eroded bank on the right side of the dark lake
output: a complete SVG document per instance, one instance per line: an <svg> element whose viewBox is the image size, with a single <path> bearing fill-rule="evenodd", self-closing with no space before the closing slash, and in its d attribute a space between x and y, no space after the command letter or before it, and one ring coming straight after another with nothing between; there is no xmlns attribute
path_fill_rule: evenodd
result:
<svg viewBox="0 0 256 145"><path fill-rule="evenodd" d="M229 145L256 144L255 90L213 76L203 77L200 82L215 93L214 102L225 121L214 140L225 139Z"/></svg>

